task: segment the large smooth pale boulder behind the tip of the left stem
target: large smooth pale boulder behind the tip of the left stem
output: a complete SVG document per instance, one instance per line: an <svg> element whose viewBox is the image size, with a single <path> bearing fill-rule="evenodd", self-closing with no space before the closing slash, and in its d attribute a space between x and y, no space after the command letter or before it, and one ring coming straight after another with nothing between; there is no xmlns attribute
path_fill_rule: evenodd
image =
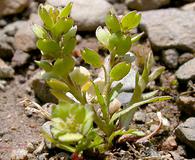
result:
<svg viewBox="0 0 195 160"><path fill-rule="evenodd" d="M75 20L79 31L94 31L104 24L104 18L112 5L105 0L72 0L71 17ZM47 0L53 6L65 6L66 0Z"/></svg>

